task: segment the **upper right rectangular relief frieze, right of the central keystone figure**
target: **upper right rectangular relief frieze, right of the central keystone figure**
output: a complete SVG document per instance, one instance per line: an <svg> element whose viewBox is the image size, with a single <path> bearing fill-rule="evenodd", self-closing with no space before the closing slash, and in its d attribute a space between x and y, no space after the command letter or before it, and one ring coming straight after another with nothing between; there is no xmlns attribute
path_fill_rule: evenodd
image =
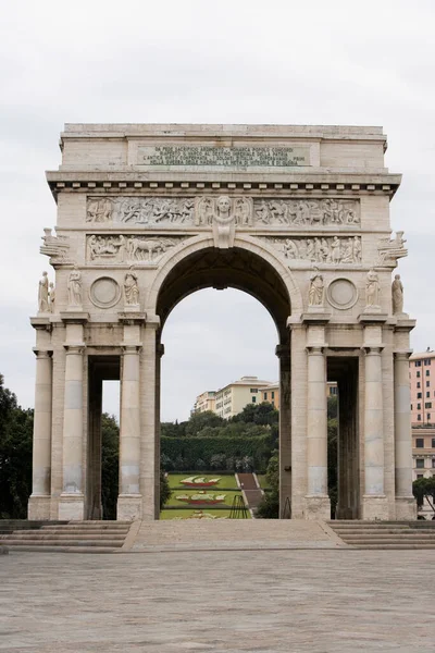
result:
<svg viewBox="0 0 435 653"><path fill-rule="evenodd" d="M273 199L256 200L257 223L288 225L359 225L357 200L345 199Z"/></svg>

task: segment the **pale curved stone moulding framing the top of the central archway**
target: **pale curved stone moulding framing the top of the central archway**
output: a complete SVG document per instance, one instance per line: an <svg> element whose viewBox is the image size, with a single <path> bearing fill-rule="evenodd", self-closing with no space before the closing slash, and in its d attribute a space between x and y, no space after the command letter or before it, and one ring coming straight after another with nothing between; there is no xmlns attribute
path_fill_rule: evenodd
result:
<svg viewBox="0 0 435 653"><path fill-rule="evenodd" d="M163 284L167 275L172 270L188 256L200 251L201 249L214 247L214 241L211 234L200 234L184 241L175 250L172 250L165 257L163 266L159 269L153 282L151 283L148 293L146 295L146 311L156 315L157 303L159 293L163 287ZM272 247L258 241L257 238L249 235L236 235L234 241L234 247L244 249L254 254L256 256L268 262L282 279L285 288L287 289L290 312L293 316L298 316L303 310L302 294L299 286L296 284L295 279L289 268L287 268L282 260L276 256Z"/></svg>

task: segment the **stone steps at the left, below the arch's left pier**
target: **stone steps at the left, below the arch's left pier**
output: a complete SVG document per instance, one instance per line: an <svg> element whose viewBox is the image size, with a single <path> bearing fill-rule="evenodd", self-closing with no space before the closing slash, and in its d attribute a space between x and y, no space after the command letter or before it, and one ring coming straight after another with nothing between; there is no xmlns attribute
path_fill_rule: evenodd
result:
<svg viewBox="0 0 435 653"><path fill-rule="evenodd" d="M121 551L132 522L51 521L40 525L41 522L23 521L18 528L8 532L8 525L1 527L0 522L0 545L11 551L115 553Z"/></svg>

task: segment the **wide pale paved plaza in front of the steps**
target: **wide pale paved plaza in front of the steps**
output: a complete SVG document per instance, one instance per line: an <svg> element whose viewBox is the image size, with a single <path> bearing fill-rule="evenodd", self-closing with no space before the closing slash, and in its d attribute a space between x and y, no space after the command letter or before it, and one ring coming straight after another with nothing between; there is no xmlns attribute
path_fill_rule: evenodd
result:
<svg viewBox="0 0 435 653"><path fill-rule="evenodd" d="M435 552L0 558L8 653L432 653Z"/></svg>

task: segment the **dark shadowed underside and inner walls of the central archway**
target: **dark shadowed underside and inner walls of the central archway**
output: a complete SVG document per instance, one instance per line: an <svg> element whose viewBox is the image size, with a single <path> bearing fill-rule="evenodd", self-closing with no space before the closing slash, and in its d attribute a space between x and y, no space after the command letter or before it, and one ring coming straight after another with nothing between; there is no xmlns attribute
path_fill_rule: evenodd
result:
<svg viewBox="0 0 435 653"><path fill-rule="evenodd" d="M171 311L188 295L203 288L235 288L248 293L259 300L269 311L276 326L277 346L275 354L279 358L278 391L279 397L279 498L281 512L287 505L286 515L289 517L288 502L291 496L291 451L290 451L290 342L287 319L290 315L290 298L281 274L271 263L259 255L241 247L232 249L204 248L189 254L178 261L165 276L157 299L157 315L161 325L157 331L157 350L162 353L162 332ZM275 343L276 344L276 343ZM271 352L272 354L272 352ZM157 357L156 370L156 427L160 426L160 357ZM254 365L254 361L252 361ZM271 381L274 381L272 379ZM247 381L249 385L249 380ZM251 387L250 391L258 390ZM263 393L257 401L263 399ZM195 397L194 397L195 398ZM223 416L223 412L221 412ZM157 438L160 444L158 433ZM157 445L157 463L160 463L160 448ZM189 470L191 471L191 470ZM288 500L288 501L286 501Z"/></svg>

